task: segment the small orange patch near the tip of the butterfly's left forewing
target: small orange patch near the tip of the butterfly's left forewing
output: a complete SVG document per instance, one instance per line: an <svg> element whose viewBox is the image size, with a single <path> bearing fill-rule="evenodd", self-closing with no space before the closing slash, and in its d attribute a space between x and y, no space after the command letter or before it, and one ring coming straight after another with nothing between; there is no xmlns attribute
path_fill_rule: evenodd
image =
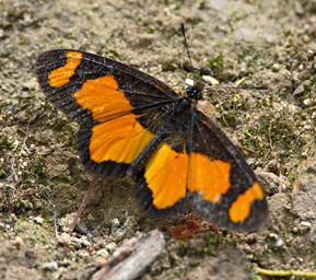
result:
<svg viewBox="0 0 316 280"><path fill-rule="evenodd" d="M78 51L68 51L65 66L52 70L48 75L48 83L52 88L60 88L70 82L70 78L74 74L79 67L83 54Z"/></svg>

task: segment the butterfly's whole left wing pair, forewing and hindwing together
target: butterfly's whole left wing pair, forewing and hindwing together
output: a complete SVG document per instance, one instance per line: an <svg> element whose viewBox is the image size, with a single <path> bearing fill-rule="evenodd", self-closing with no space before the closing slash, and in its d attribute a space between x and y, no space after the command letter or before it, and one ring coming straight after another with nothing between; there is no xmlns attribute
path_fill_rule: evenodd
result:
<svg viewBox="0 0 316 280"><path fill-rule="evenodd" d="M78 50L42 54L36 72L49 101L80 124L83 164L103 176L126 175L178 98L153 77Z"/></svg>

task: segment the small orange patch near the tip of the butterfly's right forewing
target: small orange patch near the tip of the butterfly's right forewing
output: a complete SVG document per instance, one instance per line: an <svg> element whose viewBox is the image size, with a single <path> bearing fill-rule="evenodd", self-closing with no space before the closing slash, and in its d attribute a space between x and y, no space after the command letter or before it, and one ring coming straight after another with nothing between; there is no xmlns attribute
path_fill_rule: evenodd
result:
<svg viewBox="0 0 316 280"><path fill-rule="evenodd" d="M250 208L255 200L262 200L264 192L258 182L248 188L232 203L230 219L234 223L244 222L250 214Z"/></svg>

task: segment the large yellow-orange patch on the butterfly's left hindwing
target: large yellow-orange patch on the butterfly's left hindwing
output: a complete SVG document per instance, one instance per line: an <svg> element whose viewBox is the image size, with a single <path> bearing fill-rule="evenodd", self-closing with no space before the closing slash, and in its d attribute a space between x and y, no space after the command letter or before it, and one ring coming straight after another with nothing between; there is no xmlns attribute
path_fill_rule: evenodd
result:
<svg viewBox="0 0 316 280"><path fill-rule="evenodd" d="M90 158L96 163L132 163L152 139L153 133L137 121L136 115L125 115L92 128Z"/></svg>

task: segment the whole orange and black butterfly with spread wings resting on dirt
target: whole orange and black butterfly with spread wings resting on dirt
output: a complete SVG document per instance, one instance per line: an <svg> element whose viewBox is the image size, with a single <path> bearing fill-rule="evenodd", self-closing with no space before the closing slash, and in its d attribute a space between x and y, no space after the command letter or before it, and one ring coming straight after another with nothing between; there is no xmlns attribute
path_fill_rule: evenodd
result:
<svg viewBox="0 0 316 280"><path fill-rule="evenodd" d="M104 177L136 179L149 213L192 209L235 231L255 231L268 208L254 172L219 126L199 110L201 90L178 96L124 63L57 49L36 62L49 101L80 124L83 165Z"/></svg>

